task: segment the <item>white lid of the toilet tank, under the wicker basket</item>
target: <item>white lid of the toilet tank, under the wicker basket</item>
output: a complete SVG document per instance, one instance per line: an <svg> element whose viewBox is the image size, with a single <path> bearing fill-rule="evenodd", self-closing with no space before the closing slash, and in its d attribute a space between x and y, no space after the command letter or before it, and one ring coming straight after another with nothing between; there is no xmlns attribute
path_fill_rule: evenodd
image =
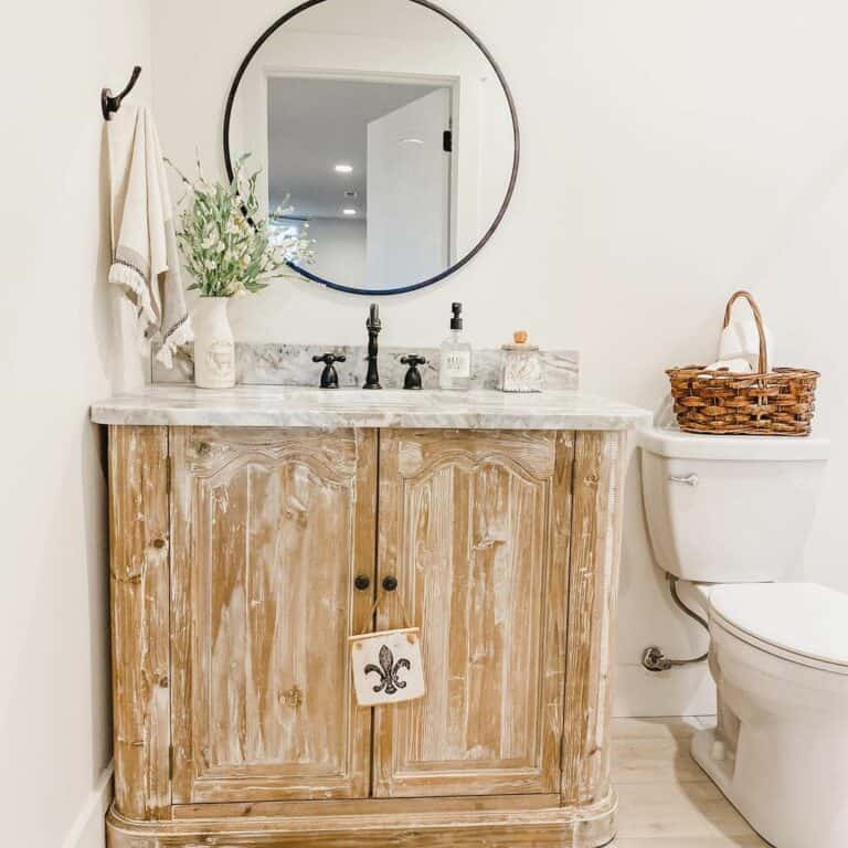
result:
<svg viewBox="0 0 848 848"><path fill-rule="evenodd" d="M827 459L830 441L813 436L709 436L671 427L646 427L637 435L645 451L669 459L798 463Z"/></svg>

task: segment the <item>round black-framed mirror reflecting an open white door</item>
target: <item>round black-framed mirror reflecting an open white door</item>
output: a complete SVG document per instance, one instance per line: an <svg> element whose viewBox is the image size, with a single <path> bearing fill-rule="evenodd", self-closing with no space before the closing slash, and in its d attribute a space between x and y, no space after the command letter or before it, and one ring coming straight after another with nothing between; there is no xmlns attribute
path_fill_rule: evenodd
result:
<svg viewBox="0 0 848 848"><path fill-rule="evenodd" d="M427 0L309 0L251 47L224 156L251 153L272 226L312 241L306 277L411 292L465 265L509 204L515 104L466 26Z"/></svg>

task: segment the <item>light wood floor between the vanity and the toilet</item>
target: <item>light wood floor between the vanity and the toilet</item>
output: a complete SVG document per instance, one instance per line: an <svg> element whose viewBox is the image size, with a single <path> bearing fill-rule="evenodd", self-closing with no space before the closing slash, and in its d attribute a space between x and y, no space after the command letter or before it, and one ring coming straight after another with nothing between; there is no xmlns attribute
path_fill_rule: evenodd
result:
<svg viewBox="0 0 848 848"><path fill-rule="evenodd" d="M611 848L767 848L689 755L712 719L616 719L613 781L618 837Z"/></svg>

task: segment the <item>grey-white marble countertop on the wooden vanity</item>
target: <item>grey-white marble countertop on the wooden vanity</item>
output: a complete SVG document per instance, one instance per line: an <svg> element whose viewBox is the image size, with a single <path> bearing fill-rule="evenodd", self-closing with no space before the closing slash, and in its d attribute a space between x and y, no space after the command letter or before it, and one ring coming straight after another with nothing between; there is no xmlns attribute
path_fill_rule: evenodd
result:
<svg viewBox="0 0 848 848"><path fill-rule="evenodd" d="M97 424L422 430L627 430L650 422L636 406L579 391L505 394L240 385L150 385L92 405Z"/></svg>

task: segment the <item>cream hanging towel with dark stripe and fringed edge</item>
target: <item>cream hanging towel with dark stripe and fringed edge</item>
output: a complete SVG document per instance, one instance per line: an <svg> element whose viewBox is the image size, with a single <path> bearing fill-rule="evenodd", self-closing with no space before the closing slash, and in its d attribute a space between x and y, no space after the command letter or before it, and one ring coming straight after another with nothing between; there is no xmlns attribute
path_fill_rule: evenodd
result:
<svg viewBox="0 0 848 848"><path fill-rule="evenodd" d="M140 329L157 331L157 354L167 368L178 347L194 336L186 308L173 206L165 159L150 112L123 109L107 124L112 201L109 283L136 307Z"/></svg>

